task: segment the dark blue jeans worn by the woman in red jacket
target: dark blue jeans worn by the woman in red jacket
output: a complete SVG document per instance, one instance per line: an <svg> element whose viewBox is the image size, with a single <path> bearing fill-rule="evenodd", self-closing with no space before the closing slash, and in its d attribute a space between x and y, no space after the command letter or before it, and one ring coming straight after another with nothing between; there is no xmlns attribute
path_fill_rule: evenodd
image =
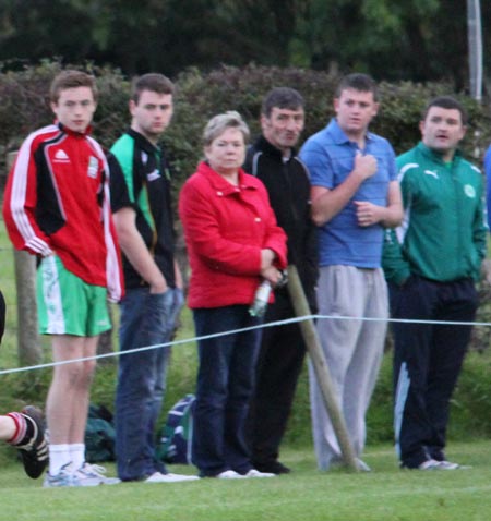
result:
<svg viewBox="0 0 491 521"><path fill-rule="evenodd" d="M260 324L246 305L193 311L197 336ZM252 469L246 420L254 387L261 329L199 341L193 463L202 476Z"/></svg>

